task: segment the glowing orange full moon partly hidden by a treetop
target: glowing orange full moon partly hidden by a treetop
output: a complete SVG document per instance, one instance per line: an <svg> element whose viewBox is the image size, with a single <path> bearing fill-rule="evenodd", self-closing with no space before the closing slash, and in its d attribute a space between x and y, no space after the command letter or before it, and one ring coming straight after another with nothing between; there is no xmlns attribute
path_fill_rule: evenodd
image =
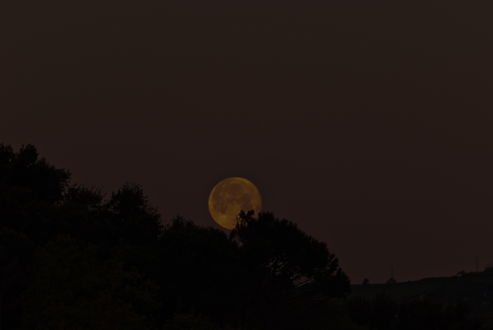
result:
<svg viewBox="0 0 493 330"><path fill-rule="evenodd" d="M235 228L236 215L241 210L255 210L256 214L261 208L262 198L257 187L244 178L222 180L209 196L212 219L227 229Z"/></svg>

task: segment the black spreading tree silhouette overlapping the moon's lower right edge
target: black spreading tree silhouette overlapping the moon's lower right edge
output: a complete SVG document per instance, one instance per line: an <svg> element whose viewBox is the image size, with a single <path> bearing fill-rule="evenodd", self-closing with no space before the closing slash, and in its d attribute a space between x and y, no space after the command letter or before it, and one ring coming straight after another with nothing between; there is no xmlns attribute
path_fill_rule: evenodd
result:
<svg viewBox="0 0 493 330"><path fill-rule="evenodd" d="M243 254L244 322L263 329L306 327L328 298L350 292L350 281L327 246L272 213L241 211L231 239Z"/></svg>

